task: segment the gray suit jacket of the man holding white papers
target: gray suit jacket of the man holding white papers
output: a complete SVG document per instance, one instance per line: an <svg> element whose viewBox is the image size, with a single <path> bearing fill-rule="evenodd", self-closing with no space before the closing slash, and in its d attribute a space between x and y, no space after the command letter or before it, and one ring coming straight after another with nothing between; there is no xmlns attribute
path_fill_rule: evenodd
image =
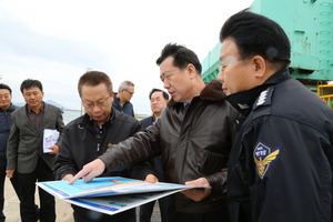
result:
<svg viewBox="0 0 333 222"><path fill-rule="evenodd" d="M7 170L19 173L30 173L37 165L38 158L42 158L50 169L53 169L56 154L43 153L43 130L57 129L60 132L57 145L60 147L63 120L61 109L44 103L44 115L37 132L27 114L27 104L12 113L12 125L7 144Z"/></svg>

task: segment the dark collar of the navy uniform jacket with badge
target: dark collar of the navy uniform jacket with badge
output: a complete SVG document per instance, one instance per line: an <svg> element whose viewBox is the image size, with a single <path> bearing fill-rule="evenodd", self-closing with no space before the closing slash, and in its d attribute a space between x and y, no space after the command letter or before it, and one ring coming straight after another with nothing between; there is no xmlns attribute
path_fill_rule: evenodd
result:
<svg viewBox="0 0 333 222"><path fill-rule="evenodd" d="M232 104L232 107L234 107L244 117L248 117L252 110L253 103L262 91L268 89L270 85L278 84L287 79L291 79L289 70L280 70L271 75L263 84L246 91L230 94L225 98L225 100L228 100Z"/></svg>

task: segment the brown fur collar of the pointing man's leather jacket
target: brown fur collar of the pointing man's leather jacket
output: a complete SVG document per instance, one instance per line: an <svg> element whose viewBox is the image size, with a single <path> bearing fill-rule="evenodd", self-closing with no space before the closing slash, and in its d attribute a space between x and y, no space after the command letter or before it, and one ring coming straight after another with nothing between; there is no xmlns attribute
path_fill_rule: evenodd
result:
<svg viewBox="0 0 333 222"><path fill-rule="evenodd" d="M225 98L225 93L222 90L222 83L218 80L212 80L205 85L205 88L203 88L199 97L201 100L219 101ZM183 102L175 102L173 99L171 99L168 102L168 107L173 107L178 103Z"/></svg>

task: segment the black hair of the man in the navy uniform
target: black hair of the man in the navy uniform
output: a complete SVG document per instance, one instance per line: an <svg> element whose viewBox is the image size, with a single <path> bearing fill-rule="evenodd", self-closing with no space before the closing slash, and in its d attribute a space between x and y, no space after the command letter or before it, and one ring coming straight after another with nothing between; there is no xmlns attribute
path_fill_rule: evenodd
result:
<svg viewBox="0 0 333 222"><path fill-rule="evenodd" d="M232 38L241 59L261 56L283 69L290 64L291 46L283 29L273 20L248 9L231 16L223 24L220 41Z"/></svg>

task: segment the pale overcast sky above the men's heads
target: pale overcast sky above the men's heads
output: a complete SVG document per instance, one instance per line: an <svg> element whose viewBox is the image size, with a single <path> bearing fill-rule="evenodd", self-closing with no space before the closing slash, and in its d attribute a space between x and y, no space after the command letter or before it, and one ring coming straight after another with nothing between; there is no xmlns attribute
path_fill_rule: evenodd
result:
<svg viewBox="0 0 333 222"><path fill-rule="evenodd" d="M253 0L0 0L0 82L23 102L20 84L38 79L44 100L80 109L87 68L135 84L135 113L150 113L148 94L163 88L155 64L162 48L180 43L202 61L224 21Z"/></svg>

